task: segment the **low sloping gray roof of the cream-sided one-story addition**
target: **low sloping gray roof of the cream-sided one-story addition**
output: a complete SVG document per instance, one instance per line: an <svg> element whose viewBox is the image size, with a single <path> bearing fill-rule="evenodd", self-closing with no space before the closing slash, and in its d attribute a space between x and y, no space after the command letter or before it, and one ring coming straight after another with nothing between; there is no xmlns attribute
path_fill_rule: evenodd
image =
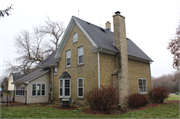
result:
<svg viewBox="0 0 180 119"><path fill-rule="evenodd" d="M22 83L28 83L31 80L34 80L43 74L49 72L49 69L38 69L28 75L25 75L24 77L14 81L12 84L22 84Z"/></svg>

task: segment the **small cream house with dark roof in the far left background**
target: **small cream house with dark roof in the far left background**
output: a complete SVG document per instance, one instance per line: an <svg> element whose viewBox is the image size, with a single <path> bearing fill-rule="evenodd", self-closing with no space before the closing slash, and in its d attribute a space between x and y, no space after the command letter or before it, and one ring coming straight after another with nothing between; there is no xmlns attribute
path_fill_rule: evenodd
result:
<svg viewBox="0 0 180 119"><path fill-rule="evenodd" d="M16 81L17 79L23 76L24 75L20 73L11 73L8 78L8 91L14 91L14 84L12 84L12 82Z"/></svg>

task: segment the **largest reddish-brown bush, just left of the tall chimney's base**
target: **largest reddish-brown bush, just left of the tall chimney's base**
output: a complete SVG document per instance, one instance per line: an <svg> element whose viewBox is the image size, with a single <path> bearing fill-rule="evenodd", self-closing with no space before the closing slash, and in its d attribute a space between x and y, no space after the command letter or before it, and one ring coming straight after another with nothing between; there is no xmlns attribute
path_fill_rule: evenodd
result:
<svg viewBox="0 0 180 119"><path fill-rule="evenodd" d="M119 103L119 93L117 89L111 85L107 87L101 85L100 89L93 88L86 93L85 98L92 110L107 111Z"/></svg>

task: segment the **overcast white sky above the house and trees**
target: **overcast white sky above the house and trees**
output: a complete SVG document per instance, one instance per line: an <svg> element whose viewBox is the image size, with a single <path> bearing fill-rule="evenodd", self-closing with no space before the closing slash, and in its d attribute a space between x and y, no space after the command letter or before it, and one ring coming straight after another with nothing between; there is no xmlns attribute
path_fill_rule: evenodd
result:
<svg viewBox="0 0 180 119"><path fill-rule="evenodd" d="M172 73L173 56L167 50L180 19L180 0L0 0L0 10L13 4L11 16L0 18L0 75L4 74L4 60L18 55L14 47L15 36L21 30L43 24L46 16L68 25L72 16L105 27L110 21L113 29L114 12L126 18L126 34L154 62L152 76ZM78 15L79 9L79 15Z"/></svg>

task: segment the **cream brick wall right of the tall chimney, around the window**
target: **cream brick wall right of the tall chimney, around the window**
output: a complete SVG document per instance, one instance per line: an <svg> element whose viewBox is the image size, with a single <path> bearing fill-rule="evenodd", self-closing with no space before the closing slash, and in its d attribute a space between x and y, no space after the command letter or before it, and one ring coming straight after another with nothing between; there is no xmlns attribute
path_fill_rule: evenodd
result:
<svg viewBox="0 0 180 119"><path fill-rule="evenodd" d="M151 90L150 64L135 60L128 60L130 94L138 92L138 78L147 79L147 89Z"/></svg>

